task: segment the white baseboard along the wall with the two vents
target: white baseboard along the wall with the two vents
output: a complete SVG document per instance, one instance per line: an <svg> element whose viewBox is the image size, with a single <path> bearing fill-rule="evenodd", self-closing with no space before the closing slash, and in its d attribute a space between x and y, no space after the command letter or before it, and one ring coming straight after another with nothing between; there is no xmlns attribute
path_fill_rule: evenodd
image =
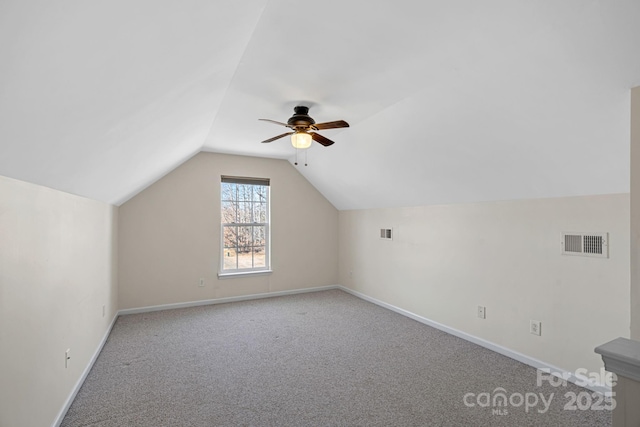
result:
<svg viewBox="0 0 640 427"><path fill-rule="evenodd" d="M443 332L446 332L448 334L454 335L454 336L456 336L458 338L462 338L463 340L472 342L472 343L477 344L477 345L479 345L481 347L487 348L487 349L489 349L491 351L495 351L496 353L502 354L503 356L507 356L507 357L509 357L511 359L517 360L518 362L524 363L525 365L532 366L532 367L534 367L536 369L548 370L549 373L551 373L553 375L556 375L556 376L561 377L561 378L566 378L567 381L569 381L571 383L574 383L574 384L577 384L577 385L579 385L581 387L585 387L585 388L587 388L587 389L589 389L591 391L595 391L595 392L598 392L598 393L601 393L601 394L604 394L604 395L609 395L611 393L611 387L606 386L604 384L597 383L597 382L593 382L593 381L588 382L587 379L579 378L573 372L565 371L564 369L560 369L557 366L550 365L550 364L545 363L545 362L543 362L541 360L534 359L533 357L529 357L529 356L527 356L525 354L518 353L517 351L514 351L514 350L511 350L509 348L503 347L501 345L492 343L492 342L484 340L482 338L478 338L478 337L470 335L470 334L468 334L466 332L462 332L462 331L460 331L458 329L451 328L449 326L443 325L442 323L438 323L438 322L435 322L435 321L433 321L431 319L427 319L426 317L419 316L419 315L417 315L415 313L412 313L410 311L407 311L407 310L404 310L402 308L396 307L394 305L388 304L386 302L377 300L375 298L372 298L372 297L370 297L368 295L365 295L363 293L360 293L358 291L354 291L353 289L349 289L349 288L344 287L342 285L338 285L337 288L340 289L340 290L343 290L343 291L345 291L345 292L347 292L347 293L349 293L349 294L351 294L353 296L356 296L356 297L358 297L360 299L363 299L365 301L369 301L369 302L371 302L373 304L379 305L380 307L384 307L384 308L387 308L387 309L389 309L391 311L395 311L396 313L401 314L403 316L406 316L406 317L408 317L410 319L413 319L413 320L415 320L417 322L420 322L420 323L423 323L425 325L431 326L433 328L439 329L439 330L441 330Z"/></svg>

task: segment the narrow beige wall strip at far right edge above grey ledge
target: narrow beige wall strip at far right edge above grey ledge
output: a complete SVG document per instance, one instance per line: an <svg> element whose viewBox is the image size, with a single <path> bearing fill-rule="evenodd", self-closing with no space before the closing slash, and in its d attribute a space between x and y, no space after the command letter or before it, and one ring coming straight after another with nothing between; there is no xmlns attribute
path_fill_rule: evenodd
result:
<svg viewBox="0 0 640 427"><path fill-rule="evenodd" d="M631 338L640 341L640 87L631 89ZM616 338L616 337L612 337Z"/></svg>

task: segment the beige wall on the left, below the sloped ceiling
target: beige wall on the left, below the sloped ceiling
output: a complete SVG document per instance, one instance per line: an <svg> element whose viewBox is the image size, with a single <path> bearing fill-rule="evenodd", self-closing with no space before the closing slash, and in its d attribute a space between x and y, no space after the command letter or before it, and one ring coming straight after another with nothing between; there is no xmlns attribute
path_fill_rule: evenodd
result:
<svg viewBox="0 0 640 427"><path fill-rule="evenodd" d="M117 312L116 228L113 206L0 177L0 426L49 426L74 390Z"/></svg>

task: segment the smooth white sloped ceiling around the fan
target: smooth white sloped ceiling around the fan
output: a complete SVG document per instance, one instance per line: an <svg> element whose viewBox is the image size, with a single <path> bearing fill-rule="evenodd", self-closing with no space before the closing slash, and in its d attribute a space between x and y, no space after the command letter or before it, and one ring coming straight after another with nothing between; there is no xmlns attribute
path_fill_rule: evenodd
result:
<svg viewBox="0 0 640 427"><path fill-rule="evenodd" d="M640 1L0 1L0 175L121 204L198 151L337 208L629 191Z"/></svg>

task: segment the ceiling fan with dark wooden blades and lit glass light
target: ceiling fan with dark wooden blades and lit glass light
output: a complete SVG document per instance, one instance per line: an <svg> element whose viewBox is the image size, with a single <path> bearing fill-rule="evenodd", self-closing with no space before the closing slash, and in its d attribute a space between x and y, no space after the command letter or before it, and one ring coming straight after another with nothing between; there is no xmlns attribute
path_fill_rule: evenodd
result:
<svg viewBox="0 0 640 427"><path fill-rule="evenodd" d="M273 138L264 140L262 141L263 143L272 142L276 139L284 138L287 135L291 135L291 144L295 148L309 148L311 146L311 140L316 141L319 144L324 145L325 147L328 147L334 142L328 138L325 138L319 133L316 133L315 131L349 127L349 123L345 122L344 120L316 123L316 121L309 116L309 107L305 107L303 105L294 107L293 111L294 114L289 120L287 120L287 123L277 122L275 120L269 119L260 119L265 122L271 122L277 125L288 127L292 130L292 132L286 132L282 135L274 136Z"/></svg>

